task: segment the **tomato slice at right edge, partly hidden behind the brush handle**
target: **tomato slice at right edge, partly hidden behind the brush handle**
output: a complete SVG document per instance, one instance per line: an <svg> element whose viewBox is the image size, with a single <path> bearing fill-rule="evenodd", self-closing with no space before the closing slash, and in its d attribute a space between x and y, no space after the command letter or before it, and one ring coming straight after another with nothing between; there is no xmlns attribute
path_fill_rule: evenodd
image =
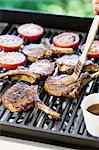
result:
<svg viewBox="0 0 99 150"><path fill-rule="evenodd" d="M83 51L84 46L85 44L81 46L81 51ZM97 40L93 41L87 56L91 58L99 57L99 41Z"/></svg>

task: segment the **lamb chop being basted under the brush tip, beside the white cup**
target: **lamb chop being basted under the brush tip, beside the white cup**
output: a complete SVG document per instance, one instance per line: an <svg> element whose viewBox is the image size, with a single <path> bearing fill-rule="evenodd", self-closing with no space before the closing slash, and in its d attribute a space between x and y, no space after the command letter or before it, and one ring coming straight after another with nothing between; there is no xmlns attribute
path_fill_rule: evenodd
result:
<svg viewBox="0 0 99 150"><path fill-rule="evenodd" d="M99 76L99 71L94 74L82 73L80 78L73 84L66 85L67 77L69 75L51 76L44 85L45 90L53 96L66 96L76 98L79 92L93 78Z"/></svg>

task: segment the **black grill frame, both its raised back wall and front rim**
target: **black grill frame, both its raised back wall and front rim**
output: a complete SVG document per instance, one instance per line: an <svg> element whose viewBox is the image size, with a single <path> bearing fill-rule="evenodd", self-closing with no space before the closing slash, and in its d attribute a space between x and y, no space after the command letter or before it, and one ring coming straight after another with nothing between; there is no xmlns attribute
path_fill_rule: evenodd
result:
<svg viewBox="0 0 99 150"><path fill-rule="evenodd" d="M20 10L0 9L0 14L1 14L0 21L7 22L9 24L13 23L21 24L31 22L31 20L33 19L34 23L40 24L46 28L64 30L65 29L64 24L66 24L66 30L72 29L72 31L78 32L87 32L92 22L92 18L53 15L41 12L40 13L31 12L26 10L20 11ZM7 28L3 30L3 32L6 32L6 30L9 30L9 25L7 26ZM94 81L94 83L95 82L96 81ZM80 102L78 103L78 106L79 105ZM77 111L77 109L75 109L75 111ZM66 131L65 134L62 134L60 131L52 131L50 129L45 130L33 126L26 126L24 124L13 123L12 125L7 121L4 122L0 121L0 132L1 135L50 143L54 145L62 145L66 147L69 146L79 148L80 146L83 146L83 147L99 148L99 139L94 137L88 137L86 136L86 134L85 137L84 136L82 137L78 134L70 135L68 131Z"/></svg>

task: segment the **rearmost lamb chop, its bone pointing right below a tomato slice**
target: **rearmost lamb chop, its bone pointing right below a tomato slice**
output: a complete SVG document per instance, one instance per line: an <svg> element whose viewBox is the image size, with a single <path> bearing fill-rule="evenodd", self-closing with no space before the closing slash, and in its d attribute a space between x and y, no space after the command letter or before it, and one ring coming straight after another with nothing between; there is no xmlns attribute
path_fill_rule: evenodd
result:
<svg viewBox="0 0 99 150"><path fill-rule="evenodd" d="M58 48L44 39L42 44L29 44L23 47L22 52L27 56L27 60L35 62L39 59L49 58L55 54L73 54L72 48Z"/></svg>

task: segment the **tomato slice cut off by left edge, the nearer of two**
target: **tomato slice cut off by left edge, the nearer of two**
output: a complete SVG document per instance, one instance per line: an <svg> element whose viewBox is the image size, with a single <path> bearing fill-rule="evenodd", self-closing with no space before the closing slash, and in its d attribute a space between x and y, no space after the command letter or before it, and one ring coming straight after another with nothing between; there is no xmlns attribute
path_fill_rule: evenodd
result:
<svg viewBox="0 0 99 150"><path fill-rule="evenodd" d="M25 56L19 52L1 52L0 67L6 69L15 69L24 64Z"/></svg>

